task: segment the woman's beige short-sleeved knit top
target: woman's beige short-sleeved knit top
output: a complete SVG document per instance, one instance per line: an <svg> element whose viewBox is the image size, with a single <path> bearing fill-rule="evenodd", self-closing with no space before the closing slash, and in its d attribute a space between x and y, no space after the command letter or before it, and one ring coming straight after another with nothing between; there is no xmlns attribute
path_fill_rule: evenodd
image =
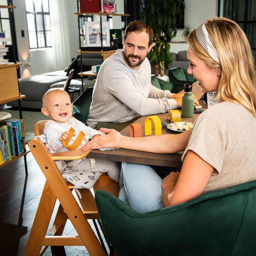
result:
<svg viewBox="0 0 256 256"><path fill-rule="evenodd" d="M219 103L196 120L188 150L214 167L203 193L256 180L256 118L242 105Z"/></svg>

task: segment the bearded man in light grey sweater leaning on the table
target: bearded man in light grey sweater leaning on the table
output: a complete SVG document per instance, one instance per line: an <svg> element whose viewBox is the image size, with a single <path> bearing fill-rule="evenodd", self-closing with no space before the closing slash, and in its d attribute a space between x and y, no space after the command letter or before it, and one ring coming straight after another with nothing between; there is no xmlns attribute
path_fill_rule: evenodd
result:
<svg viewBox="0 0 256 256"><path fill-rule="evenodd" d="M152 40L153 31L146 23L136 20L126 27L124 49L117 50L100 66L87 119L90 127L121 131L140 115L181 107L182 94L151 85L151 66L146 55Z"/></svg>

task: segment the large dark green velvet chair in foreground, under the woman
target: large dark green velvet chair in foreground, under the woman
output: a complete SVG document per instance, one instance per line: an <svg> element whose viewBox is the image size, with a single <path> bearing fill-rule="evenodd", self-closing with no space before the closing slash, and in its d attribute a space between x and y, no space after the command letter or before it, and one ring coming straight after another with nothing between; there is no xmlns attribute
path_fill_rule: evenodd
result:
<svg viewBox="0 0 256 256"><path fill-rule="evenodd" d="M120 256L256 255L256 181L147 213L105 191L95 199L105 235Z"/></svg>

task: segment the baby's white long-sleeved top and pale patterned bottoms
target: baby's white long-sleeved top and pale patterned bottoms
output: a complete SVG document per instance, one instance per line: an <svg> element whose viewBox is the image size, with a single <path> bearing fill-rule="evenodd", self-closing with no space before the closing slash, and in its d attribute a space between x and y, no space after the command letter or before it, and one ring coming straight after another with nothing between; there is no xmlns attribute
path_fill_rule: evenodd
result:
<svg viewBox="0 0 256 256"><path fill-rule="evenodd" d="M80 131L85 133L92 139L93 136L100 134L95 129L92 129L74 117L70 117L71 124L59 123L54 120L49 120L45 124L45 129L42 135L38 136L41 141L45 143L50 153L67 151L63 146L62 141L59 140L64 131L69 131L72 127L75 130L69 142L72 144ZM85 141L80 144L79 148L85 145ZM65 181L75 185L75 188L90 189L98 180L103 172L107 172L108 176L114 181L119 181L120 170L114 161L95 160L90 157L75 161L55 161Z"/></svg>

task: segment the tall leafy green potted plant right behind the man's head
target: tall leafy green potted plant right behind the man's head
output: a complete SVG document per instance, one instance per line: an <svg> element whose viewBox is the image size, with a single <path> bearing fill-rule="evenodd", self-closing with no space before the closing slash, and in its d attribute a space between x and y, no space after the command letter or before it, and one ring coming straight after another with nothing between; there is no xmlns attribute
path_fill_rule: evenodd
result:
<svg viewBox="0 0 256 256"><path fill-rule="evenodd" d="M151 26L156 45L151 49L151 60L155 64L155 75L164 75L164 69L169 69L172 62L170 53L171 39L176 36L176 19L182 17L181 6L185 8L184 0L149 0L142 12L141 18Z"/></svg>

